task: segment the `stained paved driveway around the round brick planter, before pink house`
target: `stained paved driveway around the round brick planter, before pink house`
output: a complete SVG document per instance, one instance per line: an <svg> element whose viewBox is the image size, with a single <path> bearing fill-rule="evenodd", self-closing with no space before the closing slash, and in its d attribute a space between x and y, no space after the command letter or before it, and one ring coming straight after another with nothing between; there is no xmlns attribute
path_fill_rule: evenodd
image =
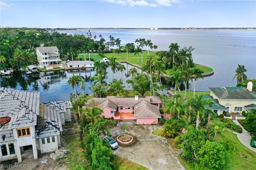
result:
<svg viewBox="0 0 256 170"><path fill-rule="evenodd" d="M111 129L113 137L122 134L123 122ZM175 156L171 146L165 138L153 134L154 130L162 129L159 125L134 125L126 124L127 132L137 138L137 143L129 147L114 150L114 154L131 160L149 169L185 169Z"/></svg>

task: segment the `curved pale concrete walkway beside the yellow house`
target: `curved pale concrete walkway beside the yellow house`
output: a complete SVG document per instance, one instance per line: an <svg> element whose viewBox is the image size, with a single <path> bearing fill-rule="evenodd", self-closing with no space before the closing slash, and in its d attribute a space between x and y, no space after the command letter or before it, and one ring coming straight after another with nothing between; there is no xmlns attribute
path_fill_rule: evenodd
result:
<svg viewBox="0 0 256 170"><path fill-rule="evenodd" d="M252 151L256 152L256 148L253 148L250 146L250 141L251 141L251 135L250 133L248 133L244 127L237 121L237 120L233 120L233 122L236 125L241 126L241 128L243 129L242 133L237 133L237 132L233 132L235 134L237 134L237 138L238 140L247 148L251 149Z"/></svg>

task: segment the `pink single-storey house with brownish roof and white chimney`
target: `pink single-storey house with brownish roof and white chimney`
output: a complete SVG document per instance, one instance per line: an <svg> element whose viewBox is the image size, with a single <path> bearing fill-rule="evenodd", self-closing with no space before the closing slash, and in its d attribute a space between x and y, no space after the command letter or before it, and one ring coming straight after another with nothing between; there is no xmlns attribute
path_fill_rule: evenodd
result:
<svg viewBox="0 0 256 170"><path fill-rule="evenodd" d="M158 124L161 117L161 99L156 96L91 98L87 106L97 106L103 110L102 116L114 120L135 120L137 124Z"/></svg>

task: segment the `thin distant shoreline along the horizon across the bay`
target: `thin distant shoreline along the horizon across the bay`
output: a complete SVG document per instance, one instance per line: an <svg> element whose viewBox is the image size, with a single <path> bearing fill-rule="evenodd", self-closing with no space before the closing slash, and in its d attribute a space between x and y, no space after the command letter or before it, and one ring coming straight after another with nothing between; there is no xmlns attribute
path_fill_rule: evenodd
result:
<svg viewBox="0 0 256 170"><path fill-rule="evenodd" d="M241 27L241 28L227 28L227 27L216 27L216 28L195 28L195 27L188 27L188 28L157 28L157 27L152 27L152 28L27 28L27 27L2 27L1 29L5 28L10 28L10 29L47 29L47 30L80 30L80 29L106 29L106 30L121 30L121 29L126 29L126 30L255 30L255 27Z"/></svg>

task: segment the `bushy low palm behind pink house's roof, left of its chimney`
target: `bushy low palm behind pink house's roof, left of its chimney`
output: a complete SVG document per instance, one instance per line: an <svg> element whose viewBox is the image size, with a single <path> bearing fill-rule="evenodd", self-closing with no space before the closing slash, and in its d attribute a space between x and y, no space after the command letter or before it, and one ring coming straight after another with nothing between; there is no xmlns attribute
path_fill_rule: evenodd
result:
<svg viewBox="0 0 256 170"><path fill-rule="evenodd" d="M123 82L121 80L113 79L109 84L110 95L113 96L127 96L128 91L124 90Z"/></svg>

